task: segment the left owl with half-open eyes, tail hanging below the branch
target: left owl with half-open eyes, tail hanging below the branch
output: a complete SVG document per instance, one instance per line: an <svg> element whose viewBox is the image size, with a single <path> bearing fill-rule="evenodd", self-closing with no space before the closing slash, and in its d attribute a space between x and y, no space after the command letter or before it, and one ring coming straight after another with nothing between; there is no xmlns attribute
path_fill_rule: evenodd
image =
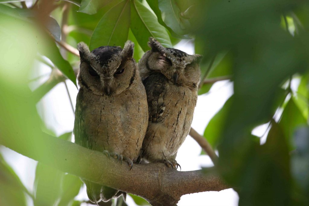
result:
<svg viewBox="0 0 309 206"><path fill-rule="evenodd" d="M102 46L89 51L78 44L80 86L76 98L75 143L122 162L139 162L148 125L145 87L133 59L134 44L123 49ZM98 160L100 161L100 160ZM98 203L126 193L82 179L89 199Z"/></svg>

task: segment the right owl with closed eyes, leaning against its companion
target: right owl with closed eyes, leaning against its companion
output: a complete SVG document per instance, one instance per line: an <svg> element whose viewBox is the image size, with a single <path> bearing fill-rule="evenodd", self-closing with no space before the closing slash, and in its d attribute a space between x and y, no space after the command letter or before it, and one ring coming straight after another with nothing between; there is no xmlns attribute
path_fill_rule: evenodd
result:
<svg viewBox="0 0 309 206"><path fill-rule="evenodd" d="M201 55L165 48L153 38L148 45L151 50L138 62L149 111L142 159L174 169L180 166L176 154L189 133L197 103Z"/></svg>

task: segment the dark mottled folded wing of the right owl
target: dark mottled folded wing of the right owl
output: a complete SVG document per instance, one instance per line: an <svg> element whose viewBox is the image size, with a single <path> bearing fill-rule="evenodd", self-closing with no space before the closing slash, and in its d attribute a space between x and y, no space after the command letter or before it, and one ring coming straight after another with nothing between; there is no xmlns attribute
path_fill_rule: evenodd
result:
<svg viewBox="0 0 309 206"><path fill-rule="evenodd" d="M151 74L144 80L144 86L147 93L149 121L156 123L162 121L166 108L163 101L167 79L163 74Z"/></svg>

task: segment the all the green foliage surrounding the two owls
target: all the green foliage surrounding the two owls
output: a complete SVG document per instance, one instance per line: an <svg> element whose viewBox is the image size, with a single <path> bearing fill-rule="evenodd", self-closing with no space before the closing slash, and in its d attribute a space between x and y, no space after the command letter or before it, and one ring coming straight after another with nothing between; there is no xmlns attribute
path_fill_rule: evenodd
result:
<svg viewBox="0 0 309 206"><path fill-rule="evenodd" d="M101 45L122 47L131 40L138 61L149 49L150 36L166 47L173 47L181 39L192 39L196 53L204 56L202 82L227 77L234 83L234 95L210 120L204 136L218 149L218 172L227 183L237 186L239 205L309 204L307 2L0 3L0 131L1 135L28 139L30 146L21 146L23 150L40 144L45 132L35 108L36 91L28 87L35 60L49 64L44 61L48 58L53 71L59 69L61 75L76 84L73 68L79 58L74 48L80 41L94 49ZM62 81L51 77L52 86ZM214 82L201 84L199 95L207 93ZM299 83L297 88L293 87L295 82ZM252 130L262 124L268 124L270 129L261 145ZM59 138L69 140L70 133ZM42 151L47 146L41 145ZM26 205L25 194L30 193L6 162L0 160L0 204ZM35 205L81 204L74 201L82 186L78 177L38 163L35 185L35 195L30 194L35 197ZM145 200L132 197L137 204L146 204Z"/></svg>

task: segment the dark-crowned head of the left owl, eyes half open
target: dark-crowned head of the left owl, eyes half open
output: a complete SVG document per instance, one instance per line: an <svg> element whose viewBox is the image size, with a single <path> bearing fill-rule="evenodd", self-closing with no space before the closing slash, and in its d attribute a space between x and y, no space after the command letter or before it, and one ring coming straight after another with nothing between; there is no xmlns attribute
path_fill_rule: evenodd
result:
<svg viewBox="0 0 309 206"><path fill-rule="evenodd" d="M127 41L123 49L102 46L89 51L84 42L77 45L80 55L78 84L96 95L120 94L132 84L137 65L133 59L134 44Z"/></svg>

